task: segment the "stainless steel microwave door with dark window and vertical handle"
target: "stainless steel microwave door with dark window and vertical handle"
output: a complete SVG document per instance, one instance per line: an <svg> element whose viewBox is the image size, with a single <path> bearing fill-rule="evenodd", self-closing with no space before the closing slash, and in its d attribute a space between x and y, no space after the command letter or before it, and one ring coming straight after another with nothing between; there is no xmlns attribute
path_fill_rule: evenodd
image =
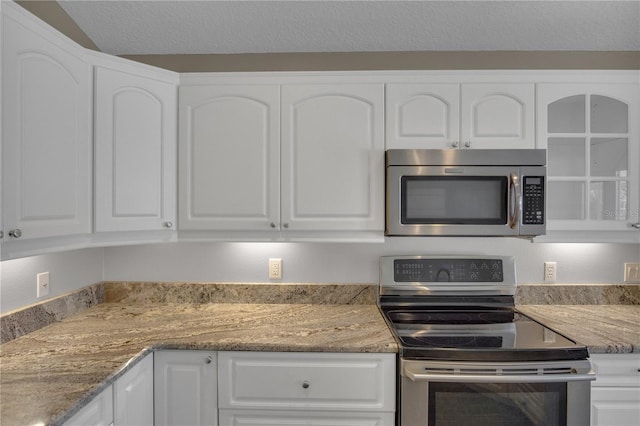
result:
<svg viewBox="0 0 640 426"><path fill-rule="evenodd" d="M518 167L387 167L387 235L519 235Z"/></svg>

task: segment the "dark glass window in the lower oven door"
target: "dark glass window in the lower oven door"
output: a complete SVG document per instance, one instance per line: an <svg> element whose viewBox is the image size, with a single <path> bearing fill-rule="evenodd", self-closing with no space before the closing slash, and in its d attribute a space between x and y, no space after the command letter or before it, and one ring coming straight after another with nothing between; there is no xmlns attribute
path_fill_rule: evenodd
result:
<svg viewBox="0 0 640 426"><path fill-rule="evenodd" d="M566 423L566 383L429 383L430 426Z"/></svg>

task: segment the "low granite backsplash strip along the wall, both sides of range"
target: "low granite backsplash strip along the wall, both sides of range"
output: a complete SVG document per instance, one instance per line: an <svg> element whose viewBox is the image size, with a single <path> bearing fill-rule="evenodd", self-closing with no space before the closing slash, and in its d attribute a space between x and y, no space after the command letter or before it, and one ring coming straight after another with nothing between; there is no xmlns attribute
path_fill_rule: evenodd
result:
<svg viewBox="0 0 640 426"><path fill-rule="evenodd" d="M0 343L99 303L376 303L375 284L105 282L0 316ZM517 305L640 305L640 285L519 285Z"/></svg>

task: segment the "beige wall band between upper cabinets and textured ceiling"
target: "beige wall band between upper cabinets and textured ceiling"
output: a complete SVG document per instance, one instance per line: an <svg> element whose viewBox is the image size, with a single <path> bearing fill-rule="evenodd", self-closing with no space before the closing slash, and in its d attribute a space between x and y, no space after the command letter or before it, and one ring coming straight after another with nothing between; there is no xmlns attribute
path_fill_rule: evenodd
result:
<svg viewBox="0 0 640 426"><path fill-rule="evenodd" d="M80 45L98 50L55 1L17 1ZM639 70L640 52L335 52L239 55L135 55L126 58L178 72L446 69Z"/></svg>

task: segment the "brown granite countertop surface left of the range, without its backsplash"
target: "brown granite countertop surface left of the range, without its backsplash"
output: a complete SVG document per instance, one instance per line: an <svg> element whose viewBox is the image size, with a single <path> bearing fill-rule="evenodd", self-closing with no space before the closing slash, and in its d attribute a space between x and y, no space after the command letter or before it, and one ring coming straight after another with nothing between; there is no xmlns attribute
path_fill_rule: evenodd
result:
<svg viewBox="0 0 640 426"><path fill-rule="evenodd" d="M0 348L3 426L62 423L158 349L397 352L375 305L337 304L102 303Z"/></svg>

